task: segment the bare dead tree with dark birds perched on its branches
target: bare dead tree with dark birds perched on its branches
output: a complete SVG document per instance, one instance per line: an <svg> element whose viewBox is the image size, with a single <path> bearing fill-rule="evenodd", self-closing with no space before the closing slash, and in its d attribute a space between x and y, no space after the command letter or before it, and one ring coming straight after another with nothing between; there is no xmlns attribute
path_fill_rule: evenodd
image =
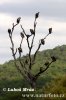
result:
<svg viewBox="0 0 66 100"><path fill-rule="evenodd" d="M23 26L20 25L21 17L17 18L16 24L13 23L12 28L8 29L9 38L11 41L10 48L12 51L12 56L14 58L15 66L16 66L17 70L19 71L19 73L21 73L21 75L29 82L31 87L36 86L36 80L38 79L38 77L49 68L49 66L52 64L52 62L56 61L56 58L54 56L52 56L51 62L46 62L43 64L43 66L40 66L39 71L36 72L34 75L31 73L32 67L35 64L36 55L37 55L40 47L42 45L45 45L45 39L47 38L48 35L50 35L52 33L52 28L49 28L48 34L44 38L39 40L38 48L32 56L31 51L32 51L33 45L34 45L34 38L35 38L35 34L36 34L36 25L37 25L36 20L38 17L39 17L39 12L35 14L34 27L33 27L33 29L30 29L30 33L31 33L30 35L27 34L25 32ZM15 44L13 41L13 32L17 25L20 25L20 27L21 27L21 32L20 32L21 43L20 43L19 47L15 49L15 46L14 46ZM31 44L30 44L29 38L31 38L31 37L32 37L32 40L31 40ZM25 59L23 60L22 59L23 58L22 57L22 53L23 53L22 43L23 43L24 38L26 38L29 52L28 52L28 56L26 55ZM17 61L17 57L16 57L17 52L19 53L18 61ZM26 67L26 65L27 65L27 67Z"/></svg>

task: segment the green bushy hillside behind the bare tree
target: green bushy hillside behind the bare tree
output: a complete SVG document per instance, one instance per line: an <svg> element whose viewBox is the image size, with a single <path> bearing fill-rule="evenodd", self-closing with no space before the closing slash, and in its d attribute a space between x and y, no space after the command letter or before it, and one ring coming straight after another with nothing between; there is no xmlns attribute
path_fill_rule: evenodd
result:
<svg viewBox="0 0 66 100"><path fill-rule="evenodd" d="M33 67L34 73L45 61L50 61L51 56L55 56L57 61L43 73L37 80L38 93L56 93L66 96L66 45L57 46L54 49L38 52L36 64ZM3 88L29 87L29 84L18 73L14 66L14 61L9 61L0 65L0 100L23 100L21 93L5 93ZM3 97L4 96L4 97ZM42 100L66 100L66 98L41 98ZM24 100L33 100L24 99ZM37 100L37 98L36 98ZM40 99L38 99L40 100Z"/></svg>

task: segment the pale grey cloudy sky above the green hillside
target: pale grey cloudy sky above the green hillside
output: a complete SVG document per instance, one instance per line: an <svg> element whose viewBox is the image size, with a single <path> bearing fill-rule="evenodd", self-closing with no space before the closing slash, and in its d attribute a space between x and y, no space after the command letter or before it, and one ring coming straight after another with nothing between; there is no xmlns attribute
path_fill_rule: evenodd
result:
<svg viewBox="0 0 66 100"><path fill-rule="evenodd" d="M29 29L33 28L36 12L40 12L40 15L37 19L32 53L37 49L39 39L48 33L50 27L53 32L47 37L45 45L40 50L66 44L66 0L0 0L0 64L13 58L8 28L12 27L13 22L16 23L18 17L21 17L21 24L26 33L30 34ZM21 40L20 32L21 28L17 26L13 33L15 48L18 48ZM27 54L26 40L23 41L22 47L22 55Z"/></svg>

